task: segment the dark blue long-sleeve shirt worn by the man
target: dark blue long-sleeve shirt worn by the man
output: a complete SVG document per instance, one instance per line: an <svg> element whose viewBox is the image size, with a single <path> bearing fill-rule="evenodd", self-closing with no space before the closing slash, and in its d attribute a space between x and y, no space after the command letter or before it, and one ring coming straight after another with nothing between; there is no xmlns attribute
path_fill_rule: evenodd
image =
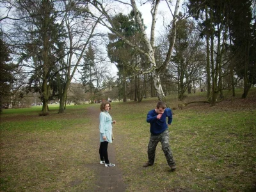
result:
<svg viewBox="0 0 256 192"><path fill-rule="evenodd" d="M160 134L168 129L168 125L172 124L172 110L170 108L165 108L163 115L160 119L157 119L158 113L153 109L148 112L147 122L150 123L150 132L152 134ZM166 118L168 122L166 124Z"/></svg>

